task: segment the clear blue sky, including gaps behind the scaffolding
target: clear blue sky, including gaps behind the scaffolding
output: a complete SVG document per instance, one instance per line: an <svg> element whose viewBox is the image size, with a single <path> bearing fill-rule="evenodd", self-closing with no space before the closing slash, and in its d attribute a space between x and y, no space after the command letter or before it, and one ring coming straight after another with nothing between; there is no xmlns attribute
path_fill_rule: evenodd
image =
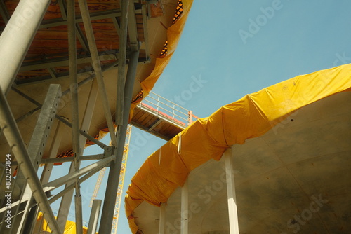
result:
<svg viewBox="0 0 351 234"><path fill-rule="evenodd" d="M350 10L350 0L195 0L176 53L153 91L206 117L274 83L350 63ZM133 128L124 191L164 143ZM95 152L94 146L86 149ZM86 206L95 181L82 191ZM104 190L102 184L98 198ZM118 233L131 233L123 205ZM84 220L89 213L84 211Z"/></svg>

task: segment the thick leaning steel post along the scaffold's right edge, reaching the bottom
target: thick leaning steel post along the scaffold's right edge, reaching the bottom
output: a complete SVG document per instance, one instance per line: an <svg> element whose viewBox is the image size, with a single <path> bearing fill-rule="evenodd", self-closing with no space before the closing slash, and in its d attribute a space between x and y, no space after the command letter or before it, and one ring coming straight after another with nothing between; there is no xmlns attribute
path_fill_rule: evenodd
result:
<svg viewBox="0 0 351 234"><path fill-rule="evenodd" d="M110 165L109 177L107 180L107 188L105 192L104 205L100 222L100 233L109 233L112 227L112 217L114 215L114 204L116 202L116 194L118 190L119 173L121 172L121 162L124 153L124 143L126 141L126 130L128 128L128 118L131 109L131 101L133 95L133 87L135 81L136 67L138 65L139 50L131 53L131 61L128 65L126 76L126 85L124 88L124 109L123 124L119 128L119 139L116 151L116 160Z"/></svg>

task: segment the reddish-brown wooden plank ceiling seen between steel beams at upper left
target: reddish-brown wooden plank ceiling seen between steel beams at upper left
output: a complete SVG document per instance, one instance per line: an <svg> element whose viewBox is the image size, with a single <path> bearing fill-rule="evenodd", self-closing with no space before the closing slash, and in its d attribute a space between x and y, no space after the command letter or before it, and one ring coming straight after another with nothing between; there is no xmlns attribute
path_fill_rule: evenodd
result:
<svg viewBox="0 0 351 234"><path fill-rule="evenodd" d="M3 1L3 0L1 0ZM8 15L11 16L15 11L16 6L20 0L5 0L4 6ZM91 15L105 15L100 16L98 20L93 20L93 30L95 41L98 46L100 55L112 55L100 57L102 66L112 64L117 61L116 55L119 49L119 35L115 23L119 24L119 0L87 0L88 8ZM135 3L135 18L137 23L138 41L144 42L143 32L143 15L141 13L142 4ZM48 78L67 76L68 64L65 66L40 68L43 64L48 62L62 62L68 61L68 39L67 39L67 14L66 14L65 0L52 0L48 10L44 15L43 22L39 28L32 46L30 46L22 68L18 73L15 83L27 83L31 81L41 81ZM139 11L138 11L139 10ZM76 1L76 18L81 19L81 13ZM114 23L115 21L115 23ZM53 25L58 25L54 26ZM0 30L4 30L6 26L5 20L0 15ZM46 27L47 26L47 27ZM129 41L128 41L129 42ZM90 57L88 46L86 43L86 34L83 23L77 23L77 57ZM145 50L140 51L140 60L146 60ZM33 65L36 69L32 69ZM29 67L32 66L32 67ZM89 62L80 63L78 71L91 71L92 67ZM54 76L54 77L53 77ZM32 79L32 80L30 80Z"/></svg>

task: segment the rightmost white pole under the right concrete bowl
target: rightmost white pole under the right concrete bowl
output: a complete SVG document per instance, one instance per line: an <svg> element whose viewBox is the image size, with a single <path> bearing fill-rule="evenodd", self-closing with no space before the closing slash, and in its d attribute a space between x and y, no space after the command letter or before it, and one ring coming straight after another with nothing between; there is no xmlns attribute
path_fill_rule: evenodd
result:
<svg viewBox="0 0 351 234"><path fill-rule="evenodd" d="M237 196L235 195L232 149L227 149L224 152L224 157L225 157L225 174L227 178L227 198L228 198L230 234L239 234Z"/></svg>

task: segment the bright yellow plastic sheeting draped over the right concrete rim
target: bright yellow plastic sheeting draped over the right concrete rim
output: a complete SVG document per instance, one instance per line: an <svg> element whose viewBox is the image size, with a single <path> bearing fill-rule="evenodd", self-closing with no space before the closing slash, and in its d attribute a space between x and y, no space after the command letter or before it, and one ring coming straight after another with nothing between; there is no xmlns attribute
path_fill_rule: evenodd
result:
<svg viewBox="0 0 351 234"><path fill-rule="evenodd" d="M296 76L196 121L147 158L131 180L125 204L132 232L138 230L133 210L141 202L159 206L195 167L211 158L220 160L233 144L244 144L246 139L279 128L293 111L345 91L351 91L351 64Z"/></svg>

